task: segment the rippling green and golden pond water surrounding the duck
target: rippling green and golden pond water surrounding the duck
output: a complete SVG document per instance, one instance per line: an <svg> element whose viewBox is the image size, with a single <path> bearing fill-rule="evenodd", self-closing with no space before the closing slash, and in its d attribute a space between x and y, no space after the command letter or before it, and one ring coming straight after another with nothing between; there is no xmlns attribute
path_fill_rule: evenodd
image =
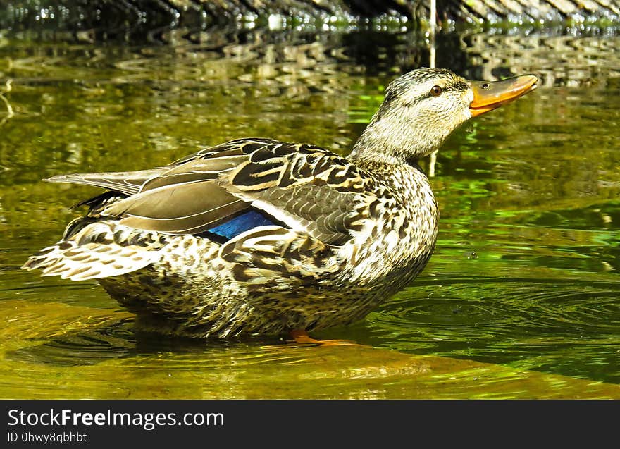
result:
<svg viewBox="0 0 620 449"><path fill-rule="evenodd" d="M0 35L13 110L0 100L0 397L620 398L614 36L438 39L440 66L533 72L541 86L445 144L426 270L364 321L316 334L358 345L142 335L97 283L19 269L97 191L41 178L159 166L237 137L346 154L385 84L428 63L424 43L402 37L370 59L346 39L261 39L131 47Z"/></svg>

